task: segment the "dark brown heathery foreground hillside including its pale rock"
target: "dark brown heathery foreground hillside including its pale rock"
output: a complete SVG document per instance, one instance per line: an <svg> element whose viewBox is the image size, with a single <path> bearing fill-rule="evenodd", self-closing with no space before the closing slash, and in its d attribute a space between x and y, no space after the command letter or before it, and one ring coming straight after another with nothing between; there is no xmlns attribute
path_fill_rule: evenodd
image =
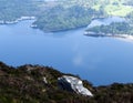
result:
<svg viewBox="0 0 133 103"><path fill-rule="evenodd" d="M49 66L0 62L0 103L133 103L133 84L95 87Z"/></svg>

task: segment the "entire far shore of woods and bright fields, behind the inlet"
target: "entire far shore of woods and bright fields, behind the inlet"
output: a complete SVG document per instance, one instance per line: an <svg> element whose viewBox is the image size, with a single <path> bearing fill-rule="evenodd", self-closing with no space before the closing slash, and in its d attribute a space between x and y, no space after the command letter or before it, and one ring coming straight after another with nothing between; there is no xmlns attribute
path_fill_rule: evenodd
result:
<svg viewBox="0 0 133 103"><path fill-rule="evenodd" d="M132 0L1 0L0 10L0 21L37 17L33 25L48 32L86 27L95 18L123 17L130 25L133 20Z"/></svg>

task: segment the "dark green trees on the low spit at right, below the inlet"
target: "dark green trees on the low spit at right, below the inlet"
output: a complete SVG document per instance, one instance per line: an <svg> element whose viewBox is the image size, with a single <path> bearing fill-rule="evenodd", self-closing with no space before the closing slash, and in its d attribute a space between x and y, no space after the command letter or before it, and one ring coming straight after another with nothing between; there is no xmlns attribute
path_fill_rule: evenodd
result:
<svg viewBox="0 0 133 103"><path fill-rule="evenodd" d="M133 28L126 22L112 22L109 25L96 25L86 31L105 34L133 34Z"/></svg>

